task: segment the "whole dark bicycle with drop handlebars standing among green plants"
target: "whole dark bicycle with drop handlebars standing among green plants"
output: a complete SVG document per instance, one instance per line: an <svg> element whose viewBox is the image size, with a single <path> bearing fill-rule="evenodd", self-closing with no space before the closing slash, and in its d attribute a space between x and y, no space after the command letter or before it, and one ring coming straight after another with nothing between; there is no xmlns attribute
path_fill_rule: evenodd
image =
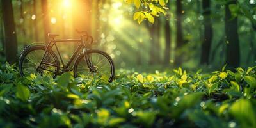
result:
<svg viewBox="0 0 256 128"><path fill-rule="evenodd" d="M74 77L84 77L93 79L103 79L111 83L115 77L115 66L111 57L103 51L97 49L89 49L89 45L93 43L92 36L86 31L77 31L80 34L79 39L61 39L56 40L57 34L48 33L49 40L47 45L30 44L21 52L19 60L19 70L21 76L28 76L31 73L49 75L52 78L70 72L73 70ZM81 35L82 34L82 35ZM73 52L71 58L67 61L67 65L63 62L61 54L56 45L57 42L80 42ZM58 56L52 50L56 48ZM77 56L79 51L82 52ZM77 56L77 57L76 57ZM60 60L59 60L59 58ZM76 58L73 69L70 69L70 64ZM60 66L60 61L62 67Z"/></svg>

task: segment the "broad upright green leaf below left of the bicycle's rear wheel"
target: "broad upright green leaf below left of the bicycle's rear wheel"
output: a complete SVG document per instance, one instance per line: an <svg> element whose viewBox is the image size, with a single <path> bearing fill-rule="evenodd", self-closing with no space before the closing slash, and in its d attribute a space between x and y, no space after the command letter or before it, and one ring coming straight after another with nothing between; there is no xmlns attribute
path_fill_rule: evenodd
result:
<svg viewBox="0 0 256 128"><path fill-rule="evenodd" d="M21 99L22 101L27 101L30 97L30 91L27 86L24 86L20 83L17 84L17 92L16 92L16 97Z"/></svg>

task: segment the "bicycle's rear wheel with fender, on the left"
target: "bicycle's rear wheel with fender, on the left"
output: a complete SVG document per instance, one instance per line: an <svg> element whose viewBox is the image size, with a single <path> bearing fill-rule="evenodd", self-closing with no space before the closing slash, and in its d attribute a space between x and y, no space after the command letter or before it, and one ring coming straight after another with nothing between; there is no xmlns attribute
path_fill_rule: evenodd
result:
<svg viewBox="0 0 256 128"><path fill-rule="evenodd" d="M43 60L44 63L49 63L50 65L41 65L42 68L36 70L44 56L45 49L45 46L36 45L29 47L23 52L19 61L19 70L21 76L28 76L30 74L39 74L40 76L47 75L53 78L57 76L54 72L58 72L58 70L60 70L60 63L58 61L58 57L51 49L47 50Z"/></svg>

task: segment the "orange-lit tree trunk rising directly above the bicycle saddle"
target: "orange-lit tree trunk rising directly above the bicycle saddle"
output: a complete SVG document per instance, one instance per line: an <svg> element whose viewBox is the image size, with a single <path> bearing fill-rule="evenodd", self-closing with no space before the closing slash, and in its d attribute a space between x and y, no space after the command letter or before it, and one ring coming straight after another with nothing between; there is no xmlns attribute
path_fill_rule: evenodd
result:
<svg viewBox="0 0 256 128"><path fill-rule="evenodd" d="M48 13L48 1L47 0L41 0L41 8L42 8L42 15L43 15L45 43L47 43L47 40L48 40L48 35L47 34L51 32L51 30L50 30L50 19L49 19L49 13Z"/></svg>

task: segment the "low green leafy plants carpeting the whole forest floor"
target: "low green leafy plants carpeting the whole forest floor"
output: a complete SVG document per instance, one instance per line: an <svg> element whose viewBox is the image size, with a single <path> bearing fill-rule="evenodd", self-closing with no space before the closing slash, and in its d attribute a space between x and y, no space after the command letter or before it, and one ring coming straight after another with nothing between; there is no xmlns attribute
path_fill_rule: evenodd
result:
<svg viewBox="0 0 256 128"><path fill-rule="evenodd" d="M0 74L1 127L256 127L254 67L120 70L113 83L69 72L56 80L20 77L8 64Z"/></svg>

